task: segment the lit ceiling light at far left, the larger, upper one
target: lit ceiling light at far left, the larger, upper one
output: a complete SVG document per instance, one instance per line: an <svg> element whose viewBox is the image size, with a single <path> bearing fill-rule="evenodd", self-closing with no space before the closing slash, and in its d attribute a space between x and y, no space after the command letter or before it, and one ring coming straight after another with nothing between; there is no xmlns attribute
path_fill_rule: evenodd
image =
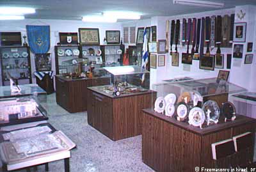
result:
<svg viewBox="0 0 256 172"><path fill-rule="evenodd" d="M0 6L0 15L1 14L22 15L22 14L35 13L35 12L36 11L34 8Z"/></svg>

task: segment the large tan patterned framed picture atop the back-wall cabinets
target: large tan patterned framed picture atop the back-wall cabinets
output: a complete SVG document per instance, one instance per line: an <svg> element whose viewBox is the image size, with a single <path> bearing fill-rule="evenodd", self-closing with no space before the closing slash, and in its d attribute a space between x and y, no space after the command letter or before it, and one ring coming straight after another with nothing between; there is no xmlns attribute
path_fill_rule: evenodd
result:
<svg viewBox="0 0 256 172"><path fill-rule="evenodd" d="M100 45L98 28L79 28L79 41L83 45Z"/></svg>

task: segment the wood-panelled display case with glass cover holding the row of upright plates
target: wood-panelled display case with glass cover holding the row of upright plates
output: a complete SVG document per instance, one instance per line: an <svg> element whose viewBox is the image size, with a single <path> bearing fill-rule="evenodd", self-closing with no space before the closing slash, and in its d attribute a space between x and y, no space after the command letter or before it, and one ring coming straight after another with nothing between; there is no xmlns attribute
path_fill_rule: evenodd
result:
<svg viewBox="0 0 256 172"><path fill-rule="evenodd" d="M237 113L228 98L246 91L235 84L211 78L153 84L152 90L157 99L143 109L142 159L156 171L214 168L212 143L255 133L256 120Z"/></svg>

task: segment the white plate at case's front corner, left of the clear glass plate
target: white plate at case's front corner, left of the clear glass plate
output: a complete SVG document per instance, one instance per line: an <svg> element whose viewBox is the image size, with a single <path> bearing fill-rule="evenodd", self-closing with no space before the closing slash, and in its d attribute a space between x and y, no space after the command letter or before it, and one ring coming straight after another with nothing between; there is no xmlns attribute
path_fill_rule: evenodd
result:
<svg viewBox="0 0 256 172"><path fill-rule="evenodd" d="M188 119L190 125L202 128L205 121L204 111L200 107L193 107L189 112Z"/></svg>

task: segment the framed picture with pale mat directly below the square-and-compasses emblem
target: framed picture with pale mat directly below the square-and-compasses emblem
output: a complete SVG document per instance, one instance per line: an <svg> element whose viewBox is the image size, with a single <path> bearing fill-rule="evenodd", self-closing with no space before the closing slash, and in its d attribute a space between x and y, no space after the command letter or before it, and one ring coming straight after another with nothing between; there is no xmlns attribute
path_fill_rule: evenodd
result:
<svg viewBox="0 0 256 172"><path fill-rule="evenodd" d="M234 40L233 42L245 42L246 40L246 22L237 22L234 24Z"/></svg>

